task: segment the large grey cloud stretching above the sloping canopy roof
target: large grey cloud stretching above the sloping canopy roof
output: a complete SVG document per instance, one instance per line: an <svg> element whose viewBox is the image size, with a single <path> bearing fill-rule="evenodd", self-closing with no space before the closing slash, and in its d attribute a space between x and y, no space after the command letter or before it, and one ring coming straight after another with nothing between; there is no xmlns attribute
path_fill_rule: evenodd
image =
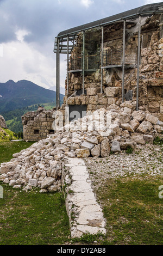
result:
<svg viewBox="0 0 163 256"><path fill-rule="evenodd" d="M5 31L7 31L4 33L4 29L1 29L4 33L3 40L5 41L5 37L7 40L15 39L14 29L20 28L30 31L30 34L24 37L26 42L37 42L37 44L46 44L48 40L52 40L59 32L68 28L102 19L132 7L135 8L134 3L130 3L131 8L128 8L128 0L121 7L111 0L103 2L94 0L90 8L81 5L80 0L0 1L3 3L1 12L8 14L8 21L1 18ZM140 0L137 1L139 2ZM115 7L118 7L118 11Z"/></svg>

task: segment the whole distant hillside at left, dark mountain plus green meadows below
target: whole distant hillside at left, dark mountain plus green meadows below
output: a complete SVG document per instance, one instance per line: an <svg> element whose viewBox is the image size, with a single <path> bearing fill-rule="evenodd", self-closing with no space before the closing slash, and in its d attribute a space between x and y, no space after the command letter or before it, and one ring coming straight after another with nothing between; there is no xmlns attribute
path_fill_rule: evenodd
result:
<svg viewBox="0 0 163 256"><path fill-rule="evenodd" d="M56 106L55 97L56 93L53 90L37 86L30 81L22 80L15 83L9 80L0 83L0 114L11 131L22 132L22 115L29 111L37 111L39 106L52 109ZM63 99L64 95L60 94L60 105Z"/></svg>

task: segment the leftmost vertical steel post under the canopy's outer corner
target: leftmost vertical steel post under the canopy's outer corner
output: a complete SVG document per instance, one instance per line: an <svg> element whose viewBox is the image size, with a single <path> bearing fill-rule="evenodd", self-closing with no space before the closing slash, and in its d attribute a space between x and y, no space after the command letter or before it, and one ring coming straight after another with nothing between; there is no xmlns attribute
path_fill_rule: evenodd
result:
<svg viewBox="0 0 163 256"><path fill-rule="evenodd" d="M59 39L57 40L56 54L56 107L60 108L60 56L59 56Z"/></svg>

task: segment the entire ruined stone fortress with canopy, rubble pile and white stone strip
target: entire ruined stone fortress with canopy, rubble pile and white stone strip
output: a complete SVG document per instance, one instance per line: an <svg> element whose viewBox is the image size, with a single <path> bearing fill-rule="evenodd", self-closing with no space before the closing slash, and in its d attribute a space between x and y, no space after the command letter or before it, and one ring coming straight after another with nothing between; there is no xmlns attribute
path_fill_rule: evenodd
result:
<svg viewBox="0 0 163 256"><path fill-rule="evenodd" d="M22 117L24 140L36 143L1 164L0 180L26 192L64 192L71 236L105 234L84 158L123 157L123 150L163 136L163 3L61 32L54 52L57 107ZM62 106L61 53L67 54Z"/></svg>

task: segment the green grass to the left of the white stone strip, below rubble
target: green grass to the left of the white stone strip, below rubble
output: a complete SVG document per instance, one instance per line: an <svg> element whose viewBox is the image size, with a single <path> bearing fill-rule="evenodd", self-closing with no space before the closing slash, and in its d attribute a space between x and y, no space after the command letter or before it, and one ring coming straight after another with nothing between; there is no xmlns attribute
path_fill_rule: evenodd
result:
<svg viewBox="0 0 163 256"><path fill-rule="evenodd" d="M2 184L0 245L58 245L70 236L61 193L17 191Z"/></svg>

